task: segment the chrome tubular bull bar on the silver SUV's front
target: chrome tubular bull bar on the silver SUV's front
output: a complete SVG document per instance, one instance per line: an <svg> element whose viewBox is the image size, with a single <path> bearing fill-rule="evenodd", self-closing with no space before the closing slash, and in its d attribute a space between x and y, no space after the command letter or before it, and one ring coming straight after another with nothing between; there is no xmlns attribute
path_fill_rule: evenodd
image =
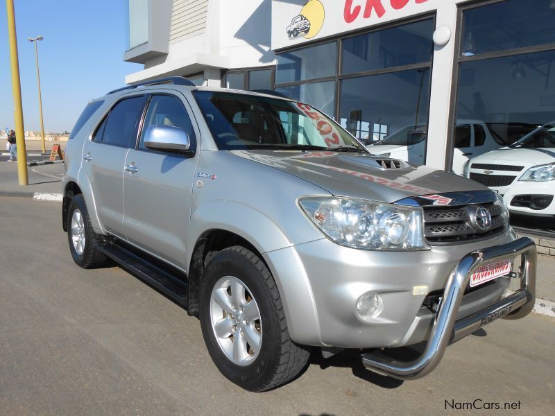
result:
<svg viewBox="0 0 555 416"><path fill-rule="evenodd" d="M472 273L483 264L517 256L521 256L520 289L486 309L456 321L456 314ZM434 370L450 343L497 318L524 318L533 309L536 296L536 257L536 245L527 237L467 254L447 280L443 299L438 306L438 313L422 355L416 360L403 362L375 352L366 353L362 355L363 365L396 379L420 379Z"/></svg>

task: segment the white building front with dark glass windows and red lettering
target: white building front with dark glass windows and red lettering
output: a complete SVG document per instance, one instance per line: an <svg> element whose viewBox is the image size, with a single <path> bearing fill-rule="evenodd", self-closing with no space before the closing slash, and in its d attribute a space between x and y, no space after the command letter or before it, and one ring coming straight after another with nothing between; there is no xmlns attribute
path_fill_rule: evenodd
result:
<svg viewBox="0 0 555 416"><path fill-rule="evenodd" d="M274 89L409 162L461 173L555 120L555 0L125 1L127 83Z"/></svg>

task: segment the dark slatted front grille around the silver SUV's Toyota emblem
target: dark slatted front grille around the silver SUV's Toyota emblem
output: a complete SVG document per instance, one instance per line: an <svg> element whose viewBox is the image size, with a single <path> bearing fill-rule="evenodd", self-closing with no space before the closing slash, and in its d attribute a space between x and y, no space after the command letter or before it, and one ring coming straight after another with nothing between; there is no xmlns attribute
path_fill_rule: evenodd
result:
<svg viewBox="0 0 555 416"><path fill-rule="evenodd" d="M491 225L481 229L475 220L478 208L488 209ZM504 210L495 202L464 207L424 207L424 236L432 244L467 242L501 234L506 228Z"/></svg>

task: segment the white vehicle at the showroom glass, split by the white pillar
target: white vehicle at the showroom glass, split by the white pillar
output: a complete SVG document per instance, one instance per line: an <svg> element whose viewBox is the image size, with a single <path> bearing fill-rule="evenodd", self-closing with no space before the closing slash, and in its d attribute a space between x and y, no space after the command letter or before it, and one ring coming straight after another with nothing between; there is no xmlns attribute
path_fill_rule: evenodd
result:
<svg viewBox="0 0 555 416"><path fill-rule="evenodd" d="M367 148L375 155L423 164L427 136L427 125L407 125ZM463 174L464 164L470 157L499 148L486 124L478 120L457 121L454 141L452 171L457 175Z"/></svg>

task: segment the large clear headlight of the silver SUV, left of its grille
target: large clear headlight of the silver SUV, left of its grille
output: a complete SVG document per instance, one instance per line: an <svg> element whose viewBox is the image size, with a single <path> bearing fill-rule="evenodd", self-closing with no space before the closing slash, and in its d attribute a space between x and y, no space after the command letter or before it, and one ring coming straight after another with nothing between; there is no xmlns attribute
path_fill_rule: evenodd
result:
<svg viewBox="0 0 555 416"><path fill-rule="evenodd" d="M337 244L365 250L428 250L422 209L355 198L306 197L299 205Z"/></svg>

